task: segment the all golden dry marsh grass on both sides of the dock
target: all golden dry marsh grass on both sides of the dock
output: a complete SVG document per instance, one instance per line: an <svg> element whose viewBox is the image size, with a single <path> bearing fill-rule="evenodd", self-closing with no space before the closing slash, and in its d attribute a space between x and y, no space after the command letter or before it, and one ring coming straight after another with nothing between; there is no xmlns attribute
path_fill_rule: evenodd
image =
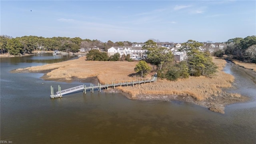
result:
<svg viewBox="0 0 256 144"><path fill-rule="evenodd" d="M99 62L99 61L86 61L85 57L80 57L76 60L69 60L55 64L48 64L44 66L36 66L18 70L29 71L43 71L52 70L46 75L48 80L64 79L71 80L72 78L89 78L96 76L100 83L112 83L119 81L132 81L138 77L131 75L134 74L134 68L137 62ZM206 100L212 96L219 96L222 93L221 88L231 87L234 77L222 71L226 64L225 60L213 59L214 63L218 66L218 72L214 78L190 77L187 79L180 79L176 82L168 80L158 80L154 83L141 84L137 86L117 87L119 90L136 97L138 94L154 94L154 95L189 95L196 100ZM148 79L152 74L148 75ZM231 94L232 96L239 97L240 94Z"/></svg>

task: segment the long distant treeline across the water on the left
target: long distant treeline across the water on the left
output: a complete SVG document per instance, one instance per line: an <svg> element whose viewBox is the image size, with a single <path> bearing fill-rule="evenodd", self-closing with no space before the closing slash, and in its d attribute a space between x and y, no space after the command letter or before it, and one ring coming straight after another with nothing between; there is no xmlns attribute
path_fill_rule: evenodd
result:
<svg viewBox="0 0 256 144"><path fill-rule="evenodd" d="M60 50L66 52L78 52L80 48L94 48L107 51L112 46L132 46L132 42L101 42L100 40L81 39L79 37L52 37L44 38L42 36L22 36L12 38L11 36L0 36L0 54L10 53L18 55L31 53L35 50L53 51Z"/></svg>

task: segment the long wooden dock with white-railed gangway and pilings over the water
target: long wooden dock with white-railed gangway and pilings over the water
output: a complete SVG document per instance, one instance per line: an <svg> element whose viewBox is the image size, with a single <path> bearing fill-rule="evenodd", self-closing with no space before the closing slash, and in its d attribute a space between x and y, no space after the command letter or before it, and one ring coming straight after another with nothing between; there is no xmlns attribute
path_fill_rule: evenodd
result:
<svg viewBox="0 0 256 144"><path fill-rule="evenodd" d="M61 87L59 86L58 88L58 92L56 92L56 94L54 94L53 91L53 87L51 86L51 98L61 98L62 95L64 94L70 94L72 92L77 92L79 90L83 90L83 92L86 94L86 90L90 90L92 93L94 91L94 89L97 89L98 91L101 91L101 89L108 89L108 88L115 88L116 86L134 86L136 84L144 84L144 83L148 83L148 82L155 82L156 81L156 77L154 77L152 80L138 80L136 82L132 81L132 82L118 82L118 83L113 83L112 84L105 84L105 85L101 85L100 83L98 83L98 86L94 86L93 84L90 84L90 86L86 86L86 85L80 85L80 86L76 86L73 88L68 88L66 90L61 90Z"/></svg>

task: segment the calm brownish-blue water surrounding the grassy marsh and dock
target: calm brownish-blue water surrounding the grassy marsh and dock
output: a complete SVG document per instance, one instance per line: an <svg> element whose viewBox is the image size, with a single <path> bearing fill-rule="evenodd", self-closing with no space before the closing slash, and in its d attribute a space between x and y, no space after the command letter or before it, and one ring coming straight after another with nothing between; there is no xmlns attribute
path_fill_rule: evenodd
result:
<svg viewBox="0 0 256 144"><path fill-rule="evenodd" d="M0 140L14 144L254 144L256 142L255 74L227 64L236 88L250 102L232 104L225 114L186 102L129 100L119 93L82 92L50 99L58 85L84 83L44 81L43 74L9 71L70 58L27 56L1 58ZM43 84L42 84L43 83ZM85 83L89 86L89 82Z"/></svg>

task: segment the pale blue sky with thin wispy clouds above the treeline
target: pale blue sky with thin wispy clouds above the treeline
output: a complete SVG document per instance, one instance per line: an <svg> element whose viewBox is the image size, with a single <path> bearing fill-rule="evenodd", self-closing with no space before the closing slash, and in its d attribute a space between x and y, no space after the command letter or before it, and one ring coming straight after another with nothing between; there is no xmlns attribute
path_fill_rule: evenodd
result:
<svg viewBox="0 0 256 144"><path fill-rule="evenodd" d="M0 1L0 34L107 42L225 42L256 35L256 1ZM32 12L31 12L32 10Z"/></svg>

